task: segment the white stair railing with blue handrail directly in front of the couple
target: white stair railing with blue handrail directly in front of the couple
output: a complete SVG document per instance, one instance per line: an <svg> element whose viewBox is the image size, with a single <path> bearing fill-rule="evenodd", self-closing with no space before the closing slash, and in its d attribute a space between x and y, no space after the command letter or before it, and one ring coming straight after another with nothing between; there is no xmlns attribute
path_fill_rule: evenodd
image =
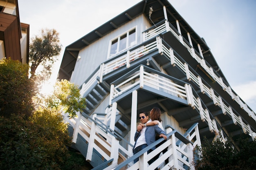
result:
<svg viewBox="0 0 256 170"><path fill-rule="evenodd" d="M120 163L116 168L113 168L113 170L121 170L124 168L126 170L153 170L155 168L163 170L175 168L177 170L194 170L193 151L197 146L201 146L198 124L194 124L184 135L181 135L169 125L166 128L166 132L167 140L157 149L153 150L149 154L147 153L147 150L160 143L159 140L163 139L159 139L123 163ZM165 148L168 148L168 150L166 152L162 152ZM148 161L157 154L160 154L160 156L154 160L153 163L148 165ZM133 160L138 157L139 161L133 163ZM166 159L168 159L167 164L165 164Z"/></svg>

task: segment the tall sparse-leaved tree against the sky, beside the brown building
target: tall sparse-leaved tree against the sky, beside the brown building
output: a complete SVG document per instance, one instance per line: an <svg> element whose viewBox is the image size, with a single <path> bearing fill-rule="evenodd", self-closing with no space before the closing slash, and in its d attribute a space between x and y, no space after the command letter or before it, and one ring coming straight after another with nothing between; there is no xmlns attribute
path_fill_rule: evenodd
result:
<svg viewBox="0 0 256 170"><path fill-rule="evenodd" d="M39 65L43 66L38 75L40 80L49 79L52 75L52 65L57 61L61 52L58 32L55 29L42 29L40 35L32 38L29 44L29 62L31 64L31 78L36 75Z"/></svg>

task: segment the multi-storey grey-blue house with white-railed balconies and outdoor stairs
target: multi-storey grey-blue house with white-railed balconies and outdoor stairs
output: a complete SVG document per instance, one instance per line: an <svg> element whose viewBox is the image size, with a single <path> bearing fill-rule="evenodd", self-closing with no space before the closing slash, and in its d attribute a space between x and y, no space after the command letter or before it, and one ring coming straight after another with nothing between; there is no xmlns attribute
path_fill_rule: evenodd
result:
<svg viewBox="0 0 256 170"><path fill-rule="evenodd" d="M168 0L142 0L67 46L58 79L77 84L86 98L86 109L65 119L74 148L94 170L188 170L204 136L256 138L254 111ZM162 110L168 139L150 154L152 146L133 155L139 111L153 107Z"/></svg>

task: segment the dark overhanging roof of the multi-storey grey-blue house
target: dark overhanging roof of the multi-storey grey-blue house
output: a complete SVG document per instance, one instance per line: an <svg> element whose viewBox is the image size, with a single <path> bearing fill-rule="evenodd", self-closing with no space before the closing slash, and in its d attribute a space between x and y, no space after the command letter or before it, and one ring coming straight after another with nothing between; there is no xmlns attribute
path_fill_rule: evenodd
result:
<svg viewBox="0 0 256 170"><path fill-rule="evenodd" d="M153 15L151 15L151 20L153 20L154 23L158 23L164 20L165 18L163 13L163 6L166 7L168 21L175 26L176 20L178 20L181 29L184 30L185 33L189 32L191 35L191 39L200 44L202 51L205 53L205 55L207 55L207 58L205 58L205 60L211 66L213 66L214 69L218 70L219 66L213 55L211 54L211 51L204 39L200 38L200 36L195 33L191 26L189 26L189 24L174 9L174 7L168 2L168 0L142 0L141 2L135 4L133 7L127 9L123 13L120 13L115 18L112 18L105 24L102 24L90 33L81 37L79 40L76 40L72 44L68 45L65 48L60 70L58 73L58 79L70 79L74 70L74 66L76 64L76 59L81 49L99 40L99 38L119 28L123 24L126 24L133 18L136 18L138 15L144 14L146 18L148 18L148 12L150 7L153 7L154 10ZM149 18L148 21L152 23ZM218 70L218 74L227 82L227 79L224 77L220 69Z"/></svg>

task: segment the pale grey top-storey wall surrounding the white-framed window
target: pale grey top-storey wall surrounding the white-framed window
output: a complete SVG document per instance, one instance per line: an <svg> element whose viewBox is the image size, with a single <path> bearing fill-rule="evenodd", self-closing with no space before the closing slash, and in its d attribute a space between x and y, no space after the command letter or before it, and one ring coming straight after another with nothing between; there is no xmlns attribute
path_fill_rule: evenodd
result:
<svg viewBox="0 0 256 170"><path fill-rule="evenodd" d="M140 44L142 42L142 32L146 29L146 26L150 27L150 23L146 20L144 15L138 16L115 31L105 35L103 38L100 38L96 42L90 44L90 46L79 51L81 59L76 61L70 82L81 86L101 63L108 60L107 57L110 40L135 26L137 27L137 44Z"/></svg>

